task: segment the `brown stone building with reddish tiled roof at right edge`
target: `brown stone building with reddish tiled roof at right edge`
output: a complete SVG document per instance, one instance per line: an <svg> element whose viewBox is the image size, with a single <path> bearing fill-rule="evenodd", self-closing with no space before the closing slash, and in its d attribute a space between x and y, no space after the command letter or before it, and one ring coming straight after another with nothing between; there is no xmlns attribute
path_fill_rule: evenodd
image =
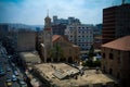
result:
<svg viewBox="0 0 130 87"><path fill-rule="evenodd" d="M102 70L130 87L130 36L102 45Z"/></svg>

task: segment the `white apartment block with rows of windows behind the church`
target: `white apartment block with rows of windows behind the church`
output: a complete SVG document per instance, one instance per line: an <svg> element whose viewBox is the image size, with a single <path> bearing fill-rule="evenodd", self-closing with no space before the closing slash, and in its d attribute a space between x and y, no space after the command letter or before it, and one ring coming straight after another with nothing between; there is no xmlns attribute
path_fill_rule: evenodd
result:
<svg viewBox="0 0 130 87"><path fill-rule="evenodd" d="M81 50L89 50L91 45L93 45L93 25L67 25L65 35L73 44L79 46Z"/></svg>

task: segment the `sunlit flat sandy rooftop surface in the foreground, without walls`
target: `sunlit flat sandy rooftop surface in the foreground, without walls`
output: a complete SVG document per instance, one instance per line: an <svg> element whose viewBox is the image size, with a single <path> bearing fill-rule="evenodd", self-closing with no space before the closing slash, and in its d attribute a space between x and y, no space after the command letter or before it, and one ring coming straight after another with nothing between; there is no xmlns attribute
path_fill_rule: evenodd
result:
<svg viewBox="0 0 130 87"><path fill-rule="evenodd" d="M86 70L84 74L80 75L79 70L65 63L43 63L35 65L36 71L47 78L51 84L60 87L69 86L87 86L89 84L106 84L115 82L112 77L99 73L95 70ZM73 76L65 78L66 76Z"/></svg>

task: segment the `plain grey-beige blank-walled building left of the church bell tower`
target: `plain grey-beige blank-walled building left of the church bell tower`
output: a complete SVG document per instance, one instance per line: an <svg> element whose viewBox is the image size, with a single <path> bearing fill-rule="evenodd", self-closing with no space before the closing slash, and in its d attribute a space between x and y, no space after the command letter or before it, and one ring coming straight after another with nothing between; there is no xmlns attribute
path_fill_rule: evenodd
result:
<svg viewBox="0 0 130 87"><path fill-rule="evenodd" d="M16 41L16 51L32 51L36 50L36 33L35 32L18 32Z"/></svg>

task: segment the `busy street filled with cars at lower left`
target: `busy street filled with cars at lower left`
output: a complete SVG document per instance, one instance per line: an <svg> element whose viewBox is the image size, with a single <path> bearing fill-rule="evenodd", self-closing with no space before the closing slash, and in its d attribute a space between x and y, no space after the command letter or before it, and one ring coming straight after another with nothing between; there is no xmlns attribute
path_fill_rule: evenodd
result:
<svg viewBox="0 0 130 87"><path fill-rule="evenodd" d="M23 73L6 55L5 49L0 46L0 87L20 87L24 82ZM24 87L27 87L26 83Z"/></svg>

